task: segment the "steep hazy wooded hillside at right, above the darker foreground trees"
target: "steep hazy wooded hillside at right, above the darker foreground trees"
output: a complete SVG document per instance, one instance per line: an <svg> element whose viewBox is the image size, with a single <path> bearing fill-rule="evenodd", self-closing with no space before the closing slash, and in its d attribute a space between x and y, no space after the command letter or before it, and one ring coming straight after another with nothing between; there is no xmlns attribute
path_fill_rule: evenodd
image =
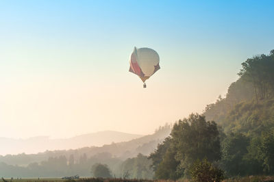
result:
<svg viewBox="0 0 274 182"><path fill-rule="evenodd" d="M218 122L225 133L260 135L274 129L274 50L242 63L238 75L223 99L207 105L207 120Z"/></svg>

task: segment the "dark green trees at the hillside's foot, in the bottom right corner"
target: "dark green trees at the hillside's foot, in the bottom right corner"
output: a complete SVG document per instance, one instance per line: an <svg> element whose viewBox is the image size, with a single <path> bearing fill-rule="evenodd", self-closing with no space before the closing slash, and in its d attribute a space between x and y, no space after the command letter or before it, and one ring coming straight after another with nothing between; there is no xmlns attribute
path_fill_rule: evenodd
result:
<svg viewBox="0 0 274 182"><path fill-rule="evenodd" d="M274 174L274 135L232 133L222 142L221 164L229 176Z"/></svg>

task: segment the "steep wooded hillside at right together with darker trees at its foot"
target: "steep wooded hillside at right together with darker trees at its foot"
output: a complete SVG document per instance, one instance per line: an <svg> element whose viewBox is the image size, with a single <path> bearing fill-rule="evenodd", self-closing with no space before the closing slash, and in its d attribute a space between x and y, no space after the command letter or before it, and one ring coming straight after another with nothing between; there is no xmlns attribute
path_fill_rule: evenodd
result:
<svg viewBox="0 0 274 182"><path fill-rule="evenodd" d="M230 133L222 142L221 164L231 176L274 174L273 53L242 63L240 78L229 86L226 98L219 97L203 113Z"/></svg>

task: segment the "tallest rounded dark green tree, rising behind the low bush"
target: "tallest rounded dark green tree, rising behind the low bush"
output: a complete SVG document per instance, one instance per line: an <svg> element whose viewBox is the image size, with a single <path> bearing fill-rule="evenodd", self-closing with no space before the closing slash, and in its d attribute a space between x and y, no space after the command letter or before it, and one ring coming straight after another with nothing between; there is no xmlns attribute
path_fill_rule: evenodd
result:
<svg viewBox="0 0 274 182"><path fill-rule="evenodd" d="M186 170L197 160L209 161L221 159L219 131L214 121L206 121L205 116L190 114L179 120L171 131L175 159L180 162L177 171ZM182 173L181 172L181 173Z"/></svg>

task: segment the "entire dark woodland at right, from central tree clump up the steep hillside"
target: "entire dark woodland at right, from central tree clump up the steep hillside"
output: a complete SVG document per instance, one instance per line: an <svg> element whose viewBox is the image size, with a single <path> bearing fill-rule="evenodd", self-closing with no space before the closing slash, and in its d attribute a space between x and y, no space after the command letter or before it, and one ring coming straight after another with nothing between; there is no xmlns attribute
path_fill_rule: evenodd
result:
<svg viewBox="0 0 274 182"><path fill-rule="evenodd" d="M225 98L175 123L171 136L149 156L155 178L273 175L273 70L274 50L247 59Z"/></svg>

